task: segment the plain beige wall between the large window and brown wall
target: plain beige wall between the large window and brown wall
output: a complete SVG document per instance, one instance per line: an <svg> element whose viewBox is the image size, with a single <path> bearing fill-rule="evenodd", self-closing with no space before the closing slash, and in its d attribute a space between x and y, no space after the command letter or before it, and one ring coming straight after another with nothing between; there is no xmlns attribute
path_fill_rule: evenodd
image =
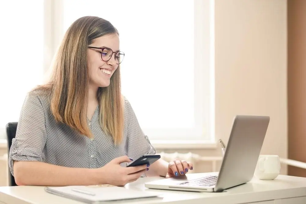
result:
<svg viewBox="0 0 306 204"><path fill-rule="evenodd" d="M227 142L236 114L268 115L262 154L283 158L287 158L286 6L285 0L215 0L216 139ZM193 152L221 155L219 149ZM209 171L207 165L198 171ZM281 173L286 172L282 166Z"/></svg>

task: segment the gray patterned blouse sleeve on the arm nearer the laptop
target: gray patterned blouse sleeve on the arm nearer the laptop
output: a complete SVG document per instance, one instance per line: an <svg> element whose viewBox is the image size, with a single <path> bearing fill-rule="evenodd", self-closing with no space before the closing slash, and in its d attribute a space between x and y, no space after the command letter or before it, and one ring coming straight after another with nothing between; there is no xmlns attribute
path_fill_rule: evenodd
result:
<svg viewBox="0 0 306 204"><path fill-rule="evenodd" d="M137 159L144 154L156 154L149 138L144 134L129 101L125 99L125 114L127 115L127 155Z"/></svg>

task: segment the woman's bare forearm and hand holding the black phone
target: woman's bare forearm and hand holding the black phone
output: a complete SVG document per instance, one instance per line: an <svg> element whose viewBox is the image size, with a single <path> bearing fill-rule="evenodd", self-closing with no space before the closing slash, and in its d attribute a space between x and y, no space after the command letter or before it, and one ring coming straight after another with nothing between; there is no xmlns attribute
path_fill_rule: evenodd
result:
<svg viewBox="0 0 306 204"><path fill-rule="evenodd" d="M73 186L111 184L124 186L137 180L147 171L147 165L122 167L130 162L127 156L114 158L97 169L69 168L40 161L14 161L14 176L17 185Z"/></svg>

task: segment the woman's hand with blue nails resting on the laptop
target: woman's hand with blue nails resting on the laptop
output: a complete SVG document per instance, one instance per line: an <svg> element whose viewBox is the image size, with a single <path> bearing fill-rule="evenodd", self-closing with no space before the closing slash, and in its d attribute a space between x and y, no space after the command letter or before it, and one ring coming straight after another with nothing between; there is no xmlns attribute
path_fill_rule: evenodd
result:
<svg viewBox="0 0 306 204"><path fill-rule="evenodd" d="M166 178L171 178L179 175L184 175L188 170L192 170L193 165L191 162L187 162L180 159L175 159L169 162Z"/></svg>

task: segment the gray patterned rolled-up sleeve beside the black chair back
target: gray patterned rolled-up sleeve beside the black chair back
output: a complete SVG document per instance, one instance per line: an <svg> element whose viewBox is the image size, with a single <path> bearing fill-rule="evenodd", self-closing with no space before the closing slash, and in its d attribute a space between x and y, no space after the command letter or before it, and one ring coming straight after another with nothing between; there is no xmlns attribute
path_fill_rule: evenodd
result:
<svg viewBox="0 0 306 204"><path fill-rule="evenodd" d="M45 161L43 149L46 143L45 113L38 96L26 96L21 109L16 137L9 150L9 168L13 161Z"/></svg>

